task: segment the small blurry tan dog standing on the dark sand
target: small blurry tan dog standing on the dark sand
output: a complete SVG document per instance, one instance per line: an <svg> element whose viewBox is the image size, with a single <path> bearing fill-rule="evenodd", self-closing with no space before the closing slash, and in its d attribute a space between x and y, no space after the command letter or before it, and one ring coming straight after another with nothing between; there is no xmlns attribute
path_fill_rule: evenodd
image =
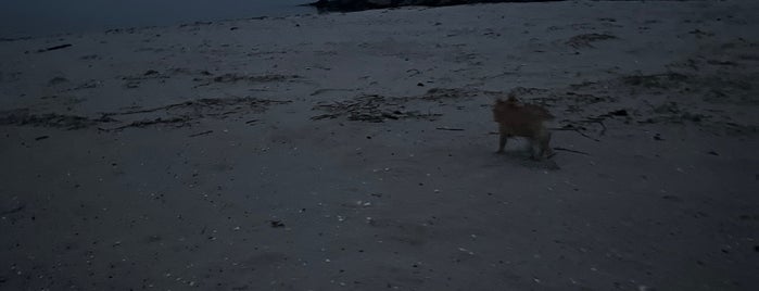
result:
<svg viewBox="0 0 759 291"><path fill-rule="evenodd" d="M493 105L493 121L498 123L501 139L497 153L504 152L506 139L510 137L526 137L530 140L532 159L541 160L543 155L551 157L553 150L551 131L544 123L554 119L554 115L543 106L520 103L514 93L509 93L508 100L501 99ZM537 150L535 150L537 148Z"/></svg>

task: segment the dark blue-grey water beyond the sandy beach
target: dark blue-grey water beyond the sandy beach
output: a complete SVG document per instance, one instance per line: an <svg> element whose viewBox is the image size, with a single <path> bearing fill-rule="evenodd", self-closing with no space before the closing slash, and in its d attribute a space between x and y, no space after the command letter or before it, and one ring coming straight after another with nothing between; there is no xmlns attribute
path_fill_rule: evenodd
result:
<svg viewBox="0 0 759 291"><path fill-rule="evenodd" d="M0 38L316 13L313 0L0 0Z"/></svg>

